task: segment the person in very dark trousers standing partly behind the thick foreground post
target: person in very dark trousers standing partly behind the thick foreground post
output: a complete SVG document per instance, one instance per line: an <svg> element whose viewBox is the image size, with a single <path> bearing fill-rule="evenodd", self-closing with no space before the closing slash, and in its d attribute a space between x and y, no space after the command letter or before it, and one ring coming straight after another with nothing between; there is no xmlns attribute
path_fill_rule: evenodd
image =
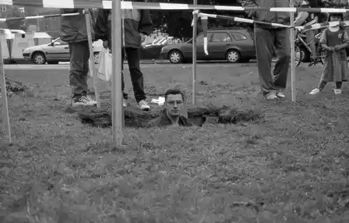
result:
<svg viewBox="0 0 349 223"><path fill-rule="evenodd" d="M122 48L122 70L124 70L125 53L127 56L128 69L131 74L133 93L138 103L138 108L149 111L147 96L144 92L144 78L140 70L140 45L144 42L145 36L149 36L153 31L153 22L149 10L124 9L124 45ZM109 9L99 9L96 20L96 39L103 40L105 48L112 49L112 13ZM128 94L124 92L125 82L122 75L122 91L124 95L124 107L127 106Z"/></svg>

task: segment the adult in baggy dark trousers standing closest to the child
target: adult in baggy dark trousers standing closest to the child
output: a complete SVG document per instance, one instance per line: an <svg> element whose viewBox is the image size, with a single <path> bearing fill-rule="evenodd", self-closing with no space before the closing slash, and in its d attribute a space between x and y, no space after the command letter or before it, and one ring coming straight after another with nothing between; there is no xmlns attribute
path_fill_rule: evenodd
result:
<svg viewBox="0 0 349 223"><path fill-rule="evenodd" d="M240 0L242 7L272 8L290 7L289 0ZM262 22L290 24L290 13L247 10L248 17ZM260 89L265 99L285 98L288 68L290 66L290 29L255 24L255 51L257 56ZM272 75L272 57L275 48L276 61Z"/></svg>

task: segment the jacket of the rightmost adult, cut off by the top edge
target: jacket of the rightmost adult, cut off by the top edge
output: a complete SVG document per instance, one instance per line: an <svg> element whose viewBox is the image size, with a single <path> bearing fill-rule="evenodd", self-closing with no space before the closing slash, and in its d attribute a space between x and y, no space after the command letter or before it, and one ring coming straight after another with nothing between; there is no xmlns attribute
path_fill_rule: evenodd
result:
<svg viewBox="0 0 349 223"><path fill-rule="evenodd" d="M288 0L240 0L242 7L255 8L289 8L290 2ZM288 24L290 22L290 13L283 12L269 12L246 10L248 17L262 22L276 22L281 24Z"/></svg>

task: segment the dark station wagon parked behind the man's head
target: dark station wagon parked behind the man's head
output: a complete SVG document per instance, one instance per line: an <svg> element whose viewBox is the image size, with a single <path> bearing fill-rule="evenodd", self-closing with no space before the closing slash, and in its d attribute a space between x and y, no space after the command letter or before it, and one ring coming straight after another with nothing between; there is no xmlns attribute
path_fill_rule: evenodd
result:
<svg viewBox="0 0 349 223"><path fill-rule="evenodd" d="M204 52L204 34L197 41L197 59L201 61L227 60L231 63L248 62L255 59L255 44L251 29L243 27L216 28L207 31L207 50ZM182 63L193 59L193 40L168 45L161 49L161 57L171 63Z"/></svg>

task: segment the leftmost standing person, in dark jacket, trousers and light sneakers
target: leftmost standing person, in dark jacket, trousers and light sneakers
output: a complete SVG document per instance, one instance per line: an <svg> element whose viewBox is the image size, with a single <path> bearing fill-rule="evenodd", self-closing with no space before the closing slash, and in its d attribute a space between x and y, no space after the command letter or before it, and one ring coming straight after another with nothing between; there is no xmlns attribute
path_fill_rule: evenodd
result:
<svg viewBox="0 0 349 223"><path fill-rule="evenodd" d="M84 10L77 8L63 8L62 14L82 13L81 15L61 17L61 40L68 43L70 54L69 84L72 89L72 106L96 106L96 100L93 100L87 91L89 89L89 42L87 39L87 26ZM89 10L91 26L94 24L94 16ZM91 27L92 40L94 40L94 31Z"/></svg>

